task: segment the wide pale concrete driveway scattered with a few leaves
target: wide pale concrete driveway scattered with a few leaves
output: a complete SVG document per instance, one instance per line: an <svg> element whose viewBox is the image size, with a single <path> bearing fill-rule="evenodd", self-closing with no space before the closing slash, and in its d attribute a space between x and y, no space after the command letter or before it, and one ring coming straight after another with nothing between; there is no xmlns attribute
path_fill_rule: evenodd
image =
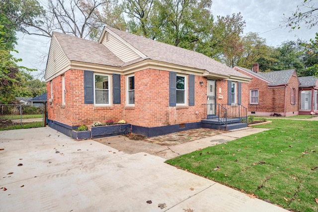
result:
<svg viewBox="0 0 318 212"><path fill-rule="evenodd" d="M1 212L286 211L162 157L74 141L48 127L1 131L0 149Z"/></svg>

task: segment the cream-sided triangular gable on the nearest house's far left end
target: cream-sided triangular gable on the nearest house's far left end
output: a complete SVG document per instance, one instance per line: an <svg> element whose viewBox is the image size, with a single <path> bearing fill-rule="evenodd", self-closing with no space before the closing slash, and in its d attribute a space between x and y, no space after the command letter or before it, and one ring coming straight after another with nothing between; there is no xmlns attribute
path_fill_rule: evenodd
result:
<svg viewBox="0 0 318 212"><path fill-rule="evenodd" d="M69 59L63 52L56 37L53 36L51 41L48 63L46 66L46 71L45 71L45 78L50 78L55 73L63 70L69 65L70 65Z"/></svg>

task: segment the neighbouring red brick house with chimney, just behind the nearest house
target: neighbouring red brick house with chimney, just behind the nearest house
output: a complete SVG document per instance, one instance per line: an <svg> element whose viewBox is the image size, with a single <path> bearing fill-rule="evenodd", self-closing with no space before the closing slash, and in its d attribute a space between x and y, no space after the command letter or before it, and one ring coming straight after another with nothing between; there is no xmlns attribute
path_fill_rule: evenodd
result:
<svg viewBox="0 0 318 212"><path fill-rule="evenodd" d="M248 83L248 115L298 115L300 82L295 70L259 72L258 64L252 70L234 70L252 77Z"/></svg>

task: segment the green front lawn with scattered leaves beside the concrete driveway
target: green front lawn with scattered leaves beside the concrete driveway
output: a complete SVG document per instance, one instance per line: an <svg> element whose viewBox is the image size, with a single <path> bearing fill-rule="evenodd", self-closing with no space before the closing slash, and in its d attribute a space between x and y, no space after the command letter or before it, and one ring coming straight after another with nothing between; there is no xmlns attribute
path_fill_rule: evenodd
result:
<svg viewBox="0 0 318 212"><path fill-rule="evenodd" d="M277 119L255 127L272 130L166 163L288 210L318 212L318 122Z"/></svg>

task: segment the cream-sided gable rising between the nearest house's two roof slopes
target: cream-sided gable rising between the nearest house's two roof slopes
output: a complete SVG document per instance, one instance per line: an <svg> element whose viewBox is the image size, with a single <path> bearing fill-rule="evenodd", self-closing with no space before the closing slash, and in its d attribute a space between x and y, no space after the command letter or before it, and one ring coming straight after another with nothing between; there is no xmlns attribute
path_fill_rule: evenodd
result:
<svg viewBox="0 0 318 212"><path fill-rule="evenodd" d="M104 36L104 39L101 43L124 63L141 58L136 52L134 52L110 33L106 32L106 35Z"/></svg>

